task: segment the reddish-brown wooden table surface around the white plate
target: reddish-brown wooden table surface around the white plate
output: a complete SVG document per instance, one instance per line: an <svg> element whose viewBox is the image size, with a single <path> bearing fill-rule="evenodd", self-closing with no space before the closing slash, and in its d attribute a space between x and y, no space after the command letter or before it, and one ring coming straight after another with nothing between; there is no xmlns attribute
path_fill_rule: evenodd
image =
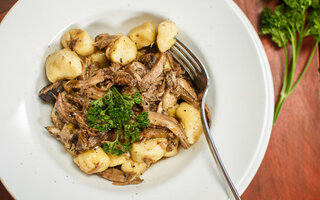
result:
<svg viewBox="0 0 320 200"><path fill-rule="evenodd" d="M0 1L0 21L16 0ZM265 6L274 6L278 0L234 0L258 27L259 13ZM284 55L267 37L261 37L266 50L275 88L279 97L283 77ZM302 48L298 60L300 69L306 62L312 39ZM243 200L311 200L320 199L320 95L319 54L300 85L285 102L274 126L263 162L242 195ZM299 70L299 67L298 67ZM13 198L0 183L0 199Z"/></svg>

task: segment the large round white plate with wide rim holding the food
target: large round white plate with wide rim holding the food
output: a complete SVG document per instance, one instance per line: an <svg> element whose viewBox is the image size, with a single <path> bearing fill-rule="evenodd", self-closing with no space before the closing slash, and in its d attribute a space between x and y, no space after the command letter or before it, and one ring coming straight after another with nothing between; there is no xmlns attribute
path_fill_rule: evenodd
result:
<svg viewBox="0 0 320 200"><path fill-rule="evenodd" d="M46 55L61 34L81 27L93 36L128 32L136 24L172 19L179 38L208 67L214 139L239 192L264 156L272 123L273 85L260 40L232 1L19 1L0 25L1 180L17 199L226 199L204 137L149 169L140 185L113 186L87 176L43 126L50 105Z"/></svg>

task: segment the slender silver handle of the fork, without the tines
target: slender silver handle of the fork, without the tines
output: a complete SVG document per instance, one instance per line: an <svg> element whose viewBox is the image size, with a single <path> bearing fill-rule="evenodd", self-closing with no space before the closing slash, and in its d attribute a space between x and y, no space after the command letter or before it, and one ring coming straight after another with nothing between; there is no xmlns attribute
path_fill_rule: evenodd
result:
<svg viewBox="0 0 320 200"><path fill-rule="evenodd" d="M232 180L230 179L229 174L223 165L218 149L213 141L212 135L210 134L209 126L207 123L206 112L205 112L205 96L206 96L206 92L203 96L202 103L201 103L201 121L202 121L203 131L206 136L206 140L208 142L211 154L218 166L220 176L223 179L223 182L225 184L225 189L228 193L229 199L241 200L241 197L239 196L237 189L234 187Z"/></svg>

